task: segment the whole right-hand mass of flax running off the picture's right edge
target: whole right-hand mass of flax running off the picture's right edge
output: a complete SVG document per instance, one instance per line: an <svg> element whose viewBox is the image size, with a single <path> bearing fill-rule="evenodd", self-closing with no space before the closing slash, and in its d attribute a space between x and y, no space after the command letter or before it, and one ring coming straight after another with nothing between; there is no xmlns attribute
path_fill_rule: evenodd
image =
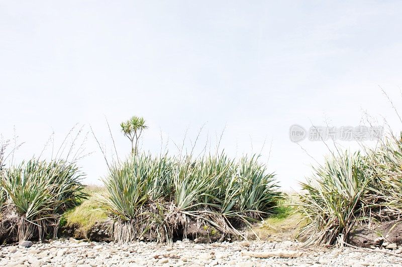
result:
<svg viewBox="0 0 402 267"><path fill-rule="evenodd" d="M346 241L359 221L402 215L402 138L386 137L375 149L345 152L315 168L301 183L299 209L309 220L306 244Z"/></svg>

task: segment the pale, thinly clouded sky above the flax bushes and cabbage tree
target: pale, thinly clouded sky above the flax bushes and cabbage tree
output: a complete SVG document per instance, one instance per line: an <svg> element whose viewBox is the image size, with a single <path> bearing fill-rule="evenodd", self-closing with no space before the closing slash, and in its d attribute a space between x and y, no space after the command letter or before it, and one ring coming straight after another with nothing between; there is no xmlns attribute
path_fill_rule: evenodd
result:
<svg viewBox="0 0 402 267"><path fill-rule="evenodd" d="M290 125L357 126L368 112L400 130L378 85L402 113L401 10L396 1L0 1L0 133L13 138L15 126L19 161L53 131L59 145L76 123L111 154L105 116L121 157L130 142L119 124L132 115L147 120L141 148L153 153L161 132L176 153L186 129L189 146L205 125L201 149L226 125L221 148L263 148L281 185L297 188L314 163L302 147L318 161L328 148L292 143ZM79 164L97 183L105 161L92 136L85 148L94 153Z"/></svg>

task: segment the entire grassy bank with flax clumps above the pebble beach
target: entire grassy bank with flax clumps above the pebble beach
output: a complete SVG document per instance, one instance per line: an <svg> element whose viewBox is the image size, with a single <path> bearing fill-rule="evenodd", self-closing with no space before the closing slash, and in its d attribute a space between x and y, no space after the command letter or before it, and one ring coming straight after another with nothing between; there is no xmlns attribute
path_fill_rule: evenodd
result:
<svg viewBox="0 0 402 267"><path fill-rule="evenodd" d="M64 160L0 164L0 237L14 227L19 240L41 240L59 226L84 236L109 220L116 242L171 242L191 227L221 240L247 238L248 229L260 240L301 232L306 245L334 245L359 225L402 216L402 136L363 152L331 153L299 194L282 193L257 155L131 155L109 165L104 186L88 187L76 164Z"/></svg>

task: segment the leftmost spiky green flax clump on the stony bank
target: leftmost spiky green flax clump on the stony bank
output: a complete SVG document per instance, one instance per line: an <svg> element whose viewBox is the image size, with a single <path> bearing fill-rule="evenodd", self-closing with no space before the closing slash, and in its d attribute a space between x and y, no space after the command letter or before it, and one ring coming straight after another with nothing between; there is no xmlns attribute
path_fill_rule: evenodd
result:
<svg viewBox="0 0 402 267"><path fill-rule="evenodd" d="M75 164L63 160L31 159L7 170L1 185L17 214L18 239L30 239L37 230L41 240L50 228L56 234L61 213L86 196L81 178Z"/></svg>

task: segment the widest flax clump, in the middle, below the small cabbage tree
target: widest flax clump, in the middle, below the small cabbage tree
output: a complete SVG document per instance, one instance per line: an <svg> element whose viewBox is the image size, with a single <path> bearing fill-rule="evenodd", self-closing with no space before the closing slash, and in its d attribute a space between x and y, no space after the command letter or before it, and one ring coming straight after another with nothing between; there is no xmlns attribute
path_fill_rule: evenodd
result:
<svg viewBox="0 0 402 267"><path fill-rule="evenodd" d="M115 241L144 235L171 241L178 230L185 237L190 221L238 235L235 226L265 216L282 199L274 175L257 159L134 155L114 165L101 202L115 221Z"/></svg>

